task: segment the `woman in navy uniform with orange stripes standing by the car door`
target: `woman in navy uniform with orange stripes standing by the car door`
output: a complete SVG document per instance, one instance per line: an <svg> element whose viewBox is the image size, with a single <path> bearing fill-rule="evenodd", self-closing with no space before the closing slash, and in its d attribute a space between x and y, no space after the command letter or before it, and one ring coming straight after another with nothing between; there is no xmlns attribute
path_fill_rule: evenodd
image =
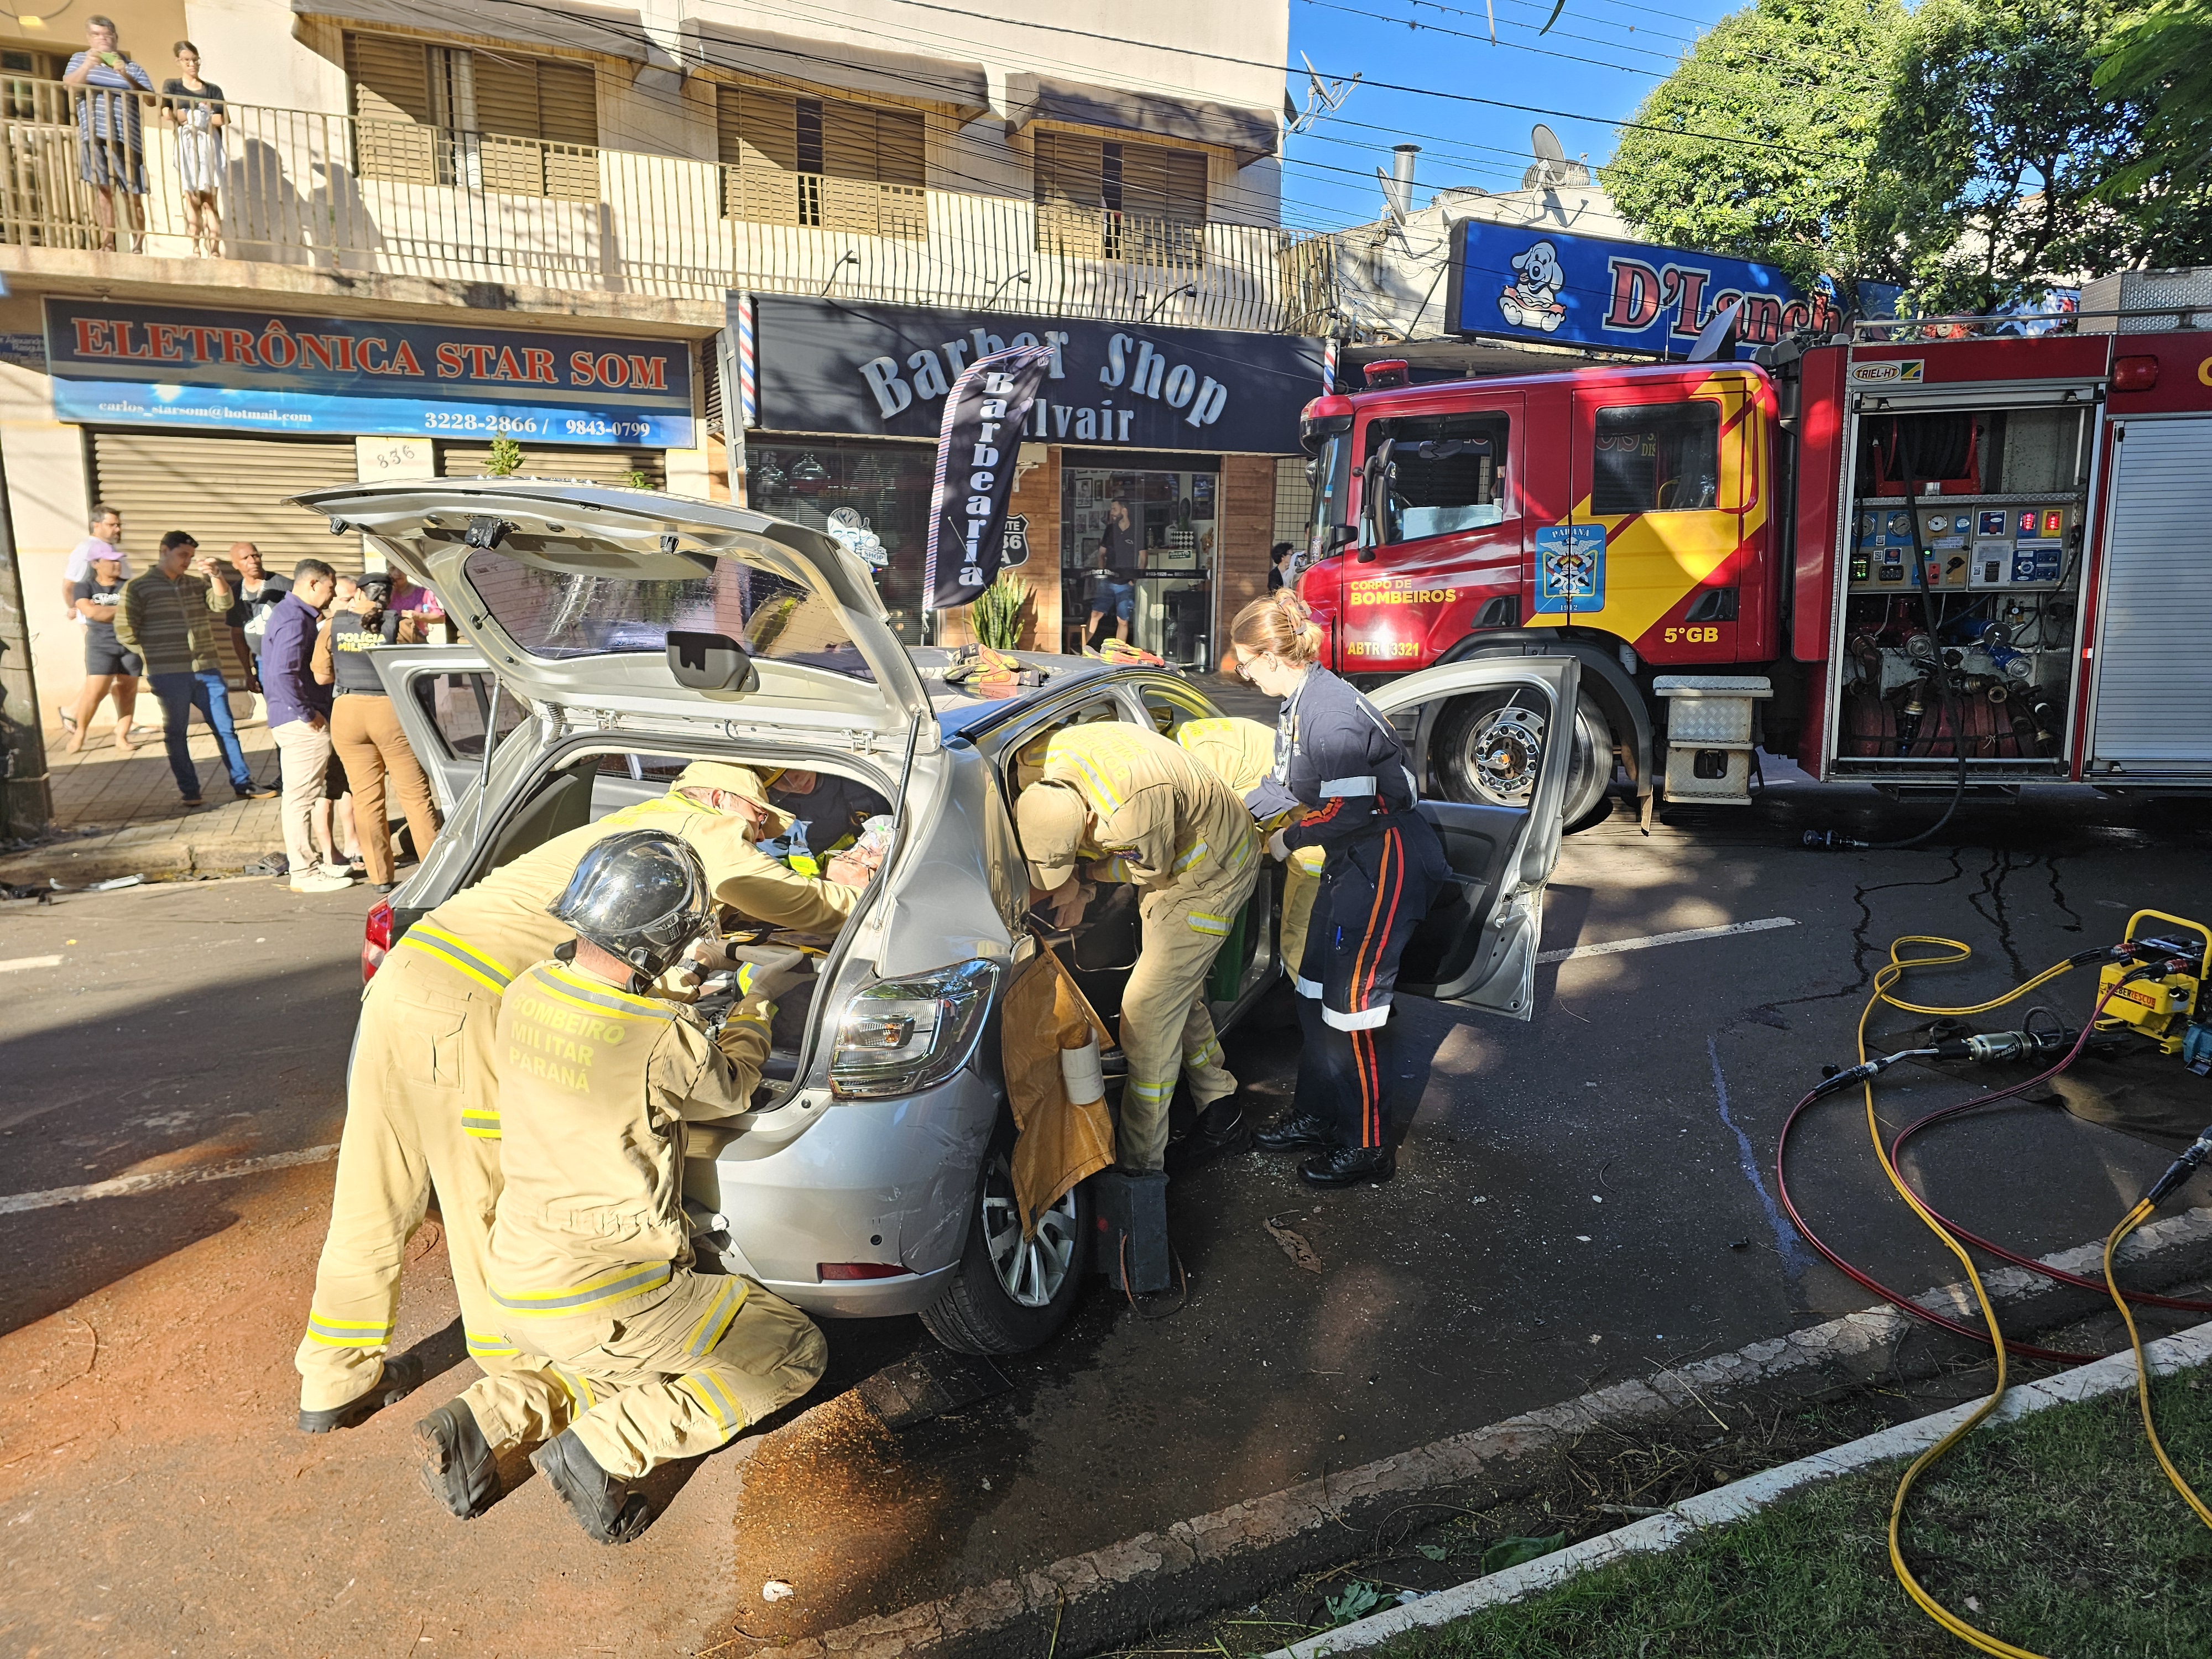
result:
<svg viewBox="0 0 2212 1659"><path fill-rule="evenodd" d="M1298 1093L1287 1119L1259 1135L1270 1152L1314 1148L1310 1186L1387 1181L1389 1099L1398 1077L1389 1029L1398 953L1444 883L1444 849L1413 810L1413 774L1387 719L1318 666L1321 628L1290 588L1254 599L1230 626L1239 672L1283 699L1274 774L1245 796L1270 818L1305 816L1270 852L1321 847L1321 891L1298 962Z"/></svg>

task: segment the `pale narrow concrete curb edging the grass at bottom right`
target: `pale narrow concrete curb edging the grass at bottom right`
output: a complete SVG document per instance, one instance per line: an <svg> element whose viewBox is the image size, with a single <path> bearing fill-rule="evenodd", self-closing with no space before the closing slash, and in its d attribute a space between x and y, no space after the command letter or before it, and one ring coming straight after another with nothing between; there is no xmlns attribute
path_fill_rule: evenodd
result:
<svg viewBox="0 0 2212 1659"><path fill-rule="evenodd" d="M2172 1371L2205 1365L2212 1360L2212 1325L2197 1325L2157 1343L2148 1343L2143 1347L2143 1356L2150 1360L2152 1376L2170 1376ZM2042 1383L2026 1383L2022 1387L2006 1389L2004 1400L1989 1416L1989 1420L2013 1422L2031 1411L2046 1411L2055 1405L2070 1405L2075 1400L2095 1400L2101 1394L2119 1394L2121 1389L2132 1387L2135 1354L2112 1354L2095 1365L2077 1365L2075 1369L2059 1371ZM1621 1526L1584 1540L1582 1544L1571 1544L1553 1555L1542 1555L1533 1562L1509 1566L1502 1573L1491 1573L1489 1577L1469 1579L1467 1584L1458 1584L1449 1590L1425 1595L1420 1601L1409 1601L1407 1606L1391 1608L1389 1613L1376 1613L1358 1619L1356 1624L1325 1630L1318 1637L1294 1641L1287 1648L1276 1648L1267 1655L1267 1659L1323 1659L1323 1655L1332 1652L1374 1648L1376 1644L1391 1641L1409 1630L1449 1624L1451 1619L1464 1619L1469 1613L1478 1613L1482 1608L1504 1606L1506 1601L1520 1601L1526 1595L1551 1590L1579 1573L1588 1573L1595 1566L1617 1562L1626 1555L1670 1551L1677 1544L1688 1544L1708 1526L1728 1526L1730 1522L1756 1515L1761 1509L1798 1486L1812 1486L1814 1482L1849 1475L1878 1462L1889 1462L1891 1458L1909 1458L1927 1451L1980 1409L1980 1400L1969 1400L1966 1405L1955 1405L1949 1411L1936 1411L1927 1418L1916 1418L1913 1422L1900 1422L1893 1429L1869 1433L1865 1440L1854 1440L1847 1447L1816 1451L1812 1458L1798 1458L1781 1469L1763 1469L1756 1475L1734 1480L1710 1493L1686 1498L1666 1515L1639 1520L1632 1526Z"/></svg>

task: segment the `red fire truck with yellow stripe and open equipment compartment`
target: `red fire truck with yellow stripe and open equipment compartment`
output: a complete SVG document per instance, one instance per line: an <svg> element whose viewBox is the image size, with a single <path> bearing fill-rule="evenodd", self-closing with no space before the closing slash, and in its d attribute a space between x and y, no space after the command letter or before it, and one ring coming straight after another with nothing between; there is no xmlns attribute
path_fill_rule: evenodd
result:
<svg viewBox="0 0 2212 1659"><path fill-rule="evenodd" d="M1363 681L1577 657L1571 827L1610 787L1747 801L1754 748L1885 785L2212 790L2188 321L1436 385L1371 363L1303 414L1298 593ZM1420 743L1440 792L1520 805L1544 737L1493 695Z"/></svg>

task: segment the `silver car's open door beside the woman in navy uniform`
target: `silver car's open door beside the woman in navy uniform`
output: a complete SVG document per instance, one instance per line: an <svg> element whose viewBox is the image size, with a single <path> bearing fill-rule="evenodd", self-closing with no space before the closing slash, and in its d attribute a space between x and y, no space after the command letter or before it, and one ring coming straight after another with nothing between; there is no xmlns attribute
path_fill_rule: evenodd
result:
<svg viewBox="0 0 2212 1659"><path fill-rule="evenodd" d="M1418 757L1420 814L1451 865L1451 883L1405 947L1400 991L1513 1020L1535 1013L1544 883L1559 860L1579 679L1573 657L1484 657L1422 668L1367 695ZM1495 794L1520 805L1427 799L1429 732L1460 697L1498 708L1480 765L1495 772Z"/></svg>

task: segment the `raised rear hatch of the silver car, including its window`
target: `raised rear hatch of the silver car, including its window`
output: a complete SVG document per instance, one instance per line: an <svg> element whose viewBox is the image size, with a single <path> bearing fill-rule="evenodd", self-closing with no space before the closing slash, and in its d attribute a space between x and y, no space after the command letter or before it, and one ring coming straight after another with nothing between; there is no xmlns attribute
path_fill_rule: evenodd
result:
<svg viewBox="0 0 2212 1659"><path fill-rule="evenodd" d="M540 717L608 732L936 737L865 566L723 502L555 480L409 480L296 498L429 584Z"/></svg>

